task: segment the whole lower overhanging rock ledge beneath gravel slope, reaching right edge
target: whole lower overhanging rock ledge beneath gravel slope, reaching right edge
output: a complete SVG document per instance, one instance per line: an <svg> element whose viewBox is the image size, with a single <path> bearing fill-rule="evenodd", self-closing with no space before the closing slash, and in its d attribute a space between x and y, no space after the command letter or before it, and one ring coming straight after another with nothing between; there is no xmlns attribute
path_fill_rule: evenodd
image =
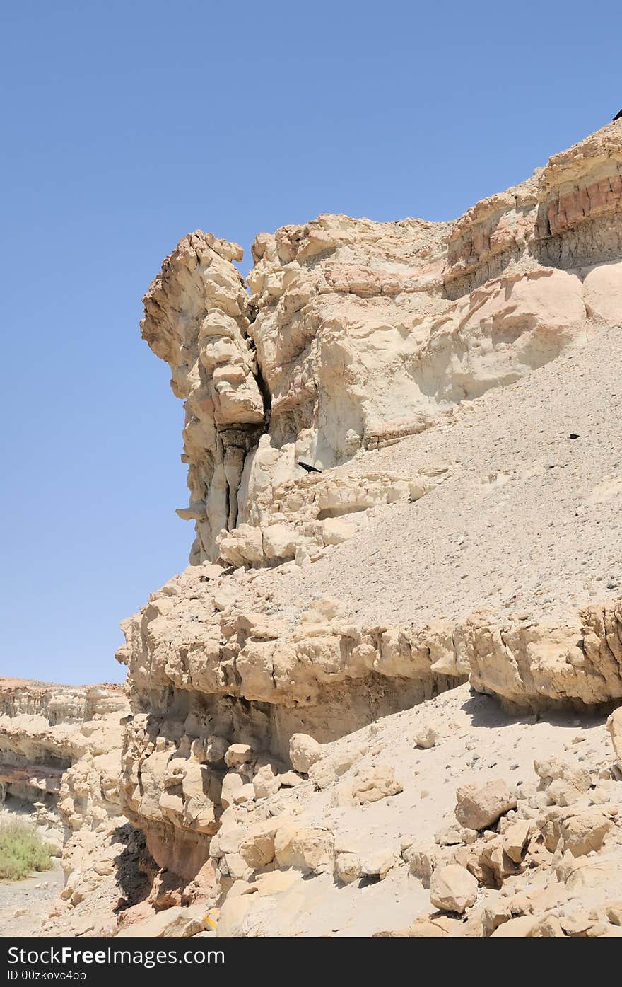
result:
<svg viewBox="0 0 622 987"><path fill-rule="evenodd" d="M595 708L621 694L617 605L578 613L567 628L499 626L477 615L454 626L362 631L334 601L318 601L292 628L252 592L250 605L243 582L227 596L231 577L193 569L126 626L123 652L137 711L125 739L124 811L161 866L186 880L218 854L212 838L226 817L242 812L241 825L250 826L265 797L306 773L324 788L350 766L347 758L333 767L302 757L300 730L321 749L467 676L510 710ZM192 620L198 613L201 622ZM425 726L417 744L442 736L442 727Z"/></svg>

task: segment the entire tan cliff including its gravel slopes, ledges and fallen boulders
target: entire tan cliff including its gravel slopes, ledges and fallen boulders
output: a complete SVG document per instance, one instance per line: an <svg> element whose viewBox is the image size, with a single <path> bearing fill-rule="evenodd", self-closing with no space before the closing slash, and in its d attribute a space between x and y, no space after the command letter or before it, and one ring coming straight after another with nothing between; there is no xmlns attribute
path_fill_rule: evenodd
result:
<svg viewBox="0 0 622 987"><path fill-rule="evenodd" d="M252 257L197 231L145 297L196 537L122 625L114 931L619 935L622 121Z"/></svg>

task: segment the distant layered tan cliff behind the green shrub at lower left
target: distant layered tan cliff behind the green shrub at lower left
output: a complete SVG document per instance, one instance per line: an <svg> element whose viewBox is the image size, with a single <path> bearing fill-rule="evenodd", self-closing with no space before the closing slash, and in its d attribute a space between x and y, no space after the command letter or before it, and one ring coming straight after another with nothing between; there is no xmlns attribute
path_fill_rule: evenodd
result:
<svg viewBox="0 0 622 987"><path fill-rule="evenodd" d="M0 709L5 814L31 822L65 873L44 934L109 926L144 845L119 801L123 690L0 679Z"/></svg>

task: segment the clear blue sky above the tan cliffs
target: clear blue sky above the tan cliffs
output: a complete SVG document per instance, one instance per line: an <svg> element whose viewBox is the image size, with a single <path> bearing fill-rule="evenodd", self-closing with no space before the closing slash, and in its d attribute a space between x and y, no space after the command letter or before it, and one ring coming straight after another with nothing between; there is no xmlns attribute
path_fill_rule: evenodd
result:
<svg viewBox="0 0 622 987"><path fill-rule="evenodd" d="M200 228L450 219L622 108L592 0L4 3L0 674L120 680L184 567L181 404L141 296Z"/></svg>

